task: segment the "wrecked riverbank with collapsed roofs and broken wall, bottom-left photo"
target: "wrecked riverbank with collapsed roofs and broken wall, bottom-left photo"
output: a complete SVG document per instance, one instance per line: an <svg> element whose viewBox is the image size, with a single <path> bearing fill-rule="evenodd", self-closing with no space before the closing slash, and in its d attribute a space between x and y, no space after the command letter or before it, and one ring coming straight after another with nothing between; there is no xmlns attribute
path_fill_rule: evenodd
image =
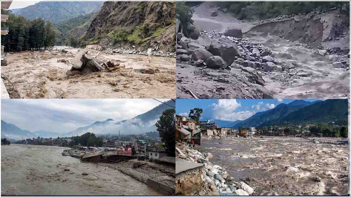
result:
<svg viewBox="0 0 351 197"><path fill-rule="evenodd" d="M163 154L155 159L145 159L140 157L136 143L121 149L75 147L64 150L62 155L79 158L81 162L101 163L100 165L119 170L165 195L175 193L176 158Z"/></svg>

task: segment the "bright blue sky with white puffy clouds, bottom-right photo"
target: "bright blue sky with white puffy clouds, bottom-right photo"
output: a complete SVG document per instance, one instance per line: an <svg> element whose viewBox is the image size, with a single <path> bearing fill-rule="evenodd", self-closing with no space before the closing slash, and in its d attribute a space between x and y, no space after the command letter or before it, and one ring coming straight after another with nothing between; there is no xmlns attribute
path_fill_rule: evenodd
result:
<svg viewBox="0 0 351 197"><path fill-rule="evenodd" d="M304 100L313 102L317 99ZM177 99L176 113L188 116L190 109L202 108L201 118L237 121L292 101L294 99Z"/></svg>

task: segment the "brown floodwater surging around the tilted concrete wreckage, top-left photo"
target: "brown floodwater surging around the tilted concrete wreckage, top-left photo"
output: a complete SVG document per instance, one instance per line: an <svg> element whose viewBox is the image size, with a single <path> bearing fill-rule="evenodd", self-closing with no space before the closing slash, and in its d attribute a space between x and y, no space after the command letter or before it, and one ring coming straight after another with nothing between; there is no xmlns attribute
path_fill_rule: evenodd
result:
<svg viewBox="0 0 351 197"><path fill-rule="evenodd" d="M56 49L56 50L55 50ZM67 75L77 48L56 47L53 51L9 54L1 74L8 77L20 98L175 98L176 60L170 57L134 54L105 54L126 69ZM61 52L68 50L68 53ZM98 52L89 50L89 54ZM58 62L66 60L67 63ZM128 69L129 68L129 69ZM133 68L152 69L142 74ZM8 88L10 84L5 84ZM11 95L11 98L15 98Z"/></svg>

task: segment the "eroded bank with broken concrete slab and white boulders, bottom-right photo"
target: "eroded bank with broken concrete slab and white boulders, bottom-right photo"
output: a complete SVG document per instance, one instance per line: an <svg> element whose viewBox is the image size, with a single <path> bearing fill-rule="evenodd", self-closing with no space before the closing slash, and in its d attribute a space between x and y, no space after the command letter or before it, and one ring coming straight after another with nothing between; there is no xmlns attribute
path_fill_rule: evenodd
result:
<svg viewBox="0 0 351 197"><path fill-rule="evenodd" d="M186 144L177 144L177 188L180 195L253 195L255 190L234 178L219 165L210 161L212 154L202 154ZM178 169L179 168L179 169Z"/></svg>

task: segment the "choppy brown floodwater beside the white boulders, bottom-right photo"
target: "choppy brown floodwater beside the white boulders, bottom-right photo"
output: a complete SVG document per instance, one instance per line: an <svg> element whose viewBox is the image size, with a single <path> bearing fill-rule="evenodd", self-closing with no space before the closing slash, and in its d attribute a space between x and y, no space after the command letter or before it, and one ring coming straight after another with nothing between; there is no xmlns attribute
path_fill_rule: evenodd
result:
<svg viewBox="0 0 351 197"><path fill-rule="evenodd" d="M247 182L258 195L346 195L349 146L304 138L265 137L202 140L210 162Z"/></svg>

